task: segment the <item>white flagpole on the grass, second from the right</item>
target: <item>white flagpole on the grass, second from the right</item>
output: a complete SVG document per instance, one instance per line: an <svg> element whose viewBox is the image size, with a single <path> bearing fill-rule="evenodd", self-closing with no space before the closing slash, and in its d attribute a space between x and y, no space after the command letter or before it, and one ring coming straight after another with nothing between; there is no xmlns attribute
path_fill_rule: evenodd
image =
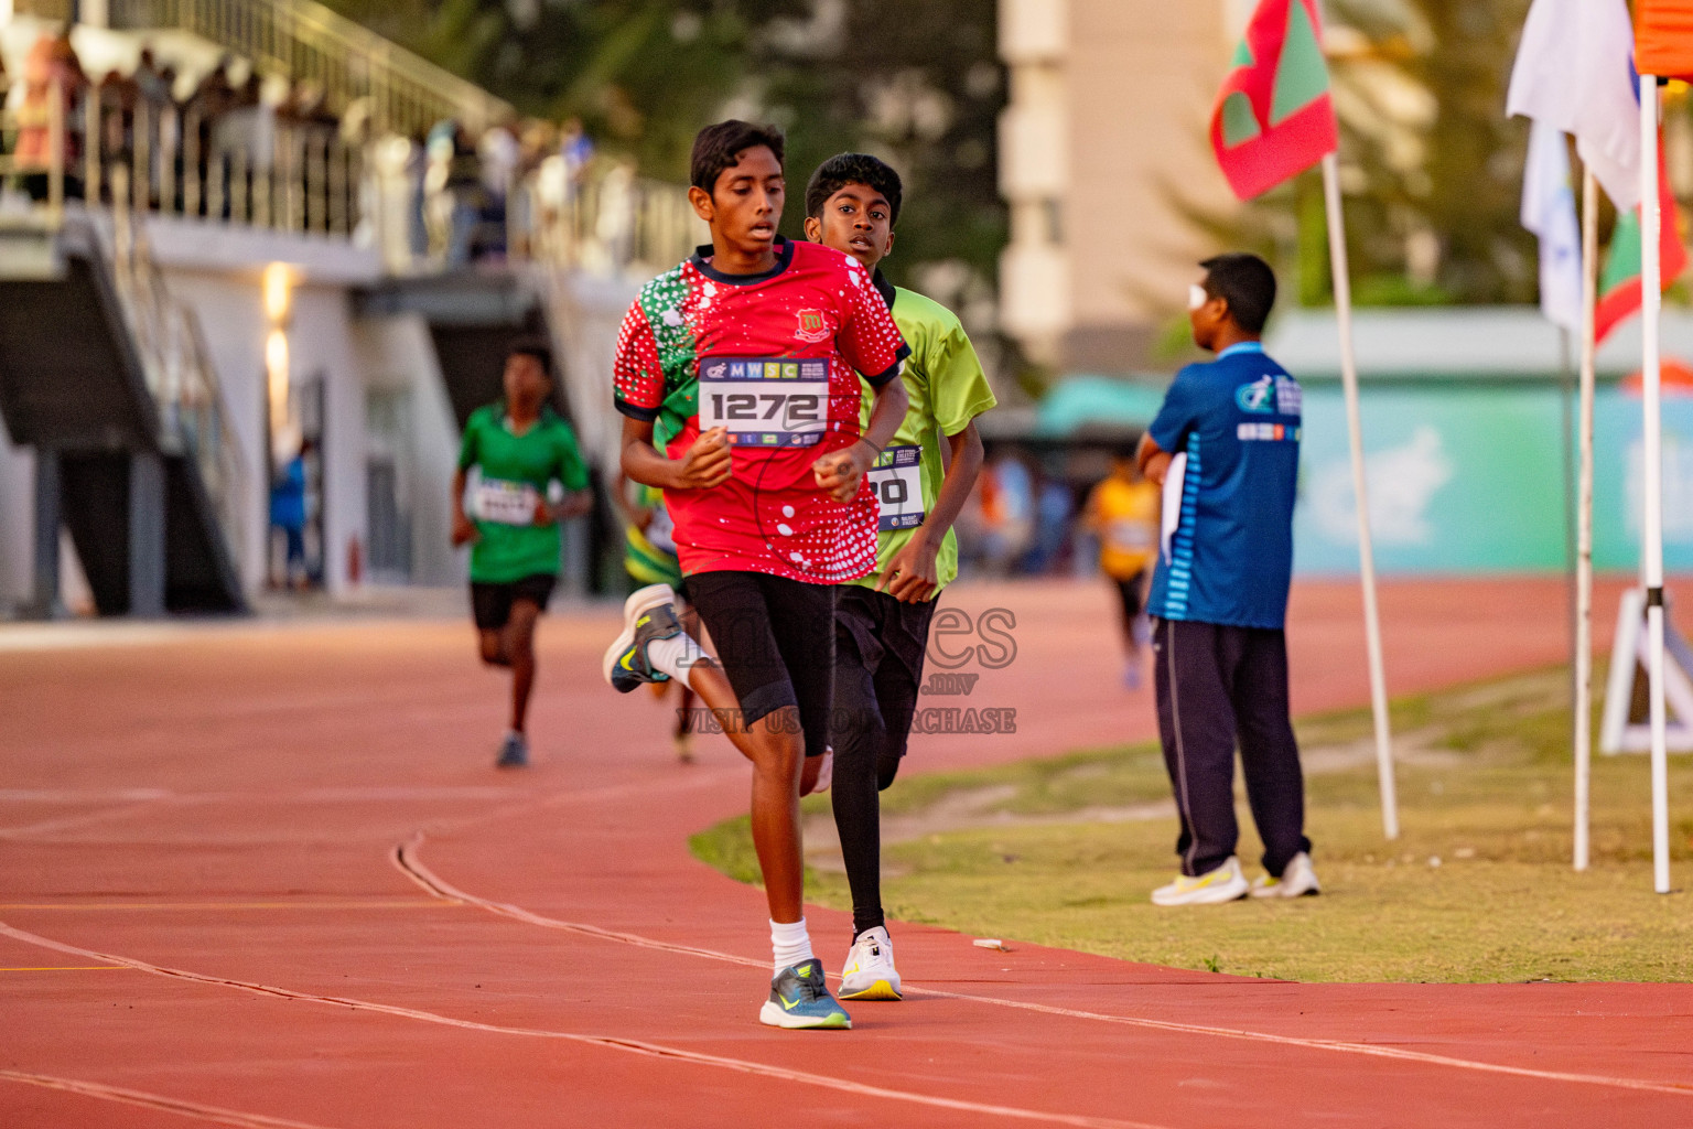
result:
<svg viewBox="0 0 1693 1129"><path fill-rule="evenodd" d="M1593 779L1593 372L1598 345L1598 184L1581 171L1581 469L1576 486L1576 870L1588 868Z"/></svg>

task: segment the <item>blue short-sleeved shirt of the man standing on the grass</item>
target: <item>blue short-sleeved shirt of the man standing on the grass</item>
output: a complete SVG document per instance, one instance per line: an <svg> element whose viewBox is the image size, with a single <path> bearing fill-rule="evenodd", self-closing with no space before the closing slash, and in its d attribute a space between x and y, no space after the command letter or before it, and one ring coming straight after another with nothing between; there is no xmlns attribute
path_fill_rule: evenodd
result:
<svg viewBox="0 0 1693 1129"><path fill-rule="evenodd" d="M1180 482L1172 474L1165 486L1166 537L1150 614L1287 625L1300 410L1299 381L1258 342L1175 374L1148 433L1172 455L1187 455L1187 465Z"/></svg>

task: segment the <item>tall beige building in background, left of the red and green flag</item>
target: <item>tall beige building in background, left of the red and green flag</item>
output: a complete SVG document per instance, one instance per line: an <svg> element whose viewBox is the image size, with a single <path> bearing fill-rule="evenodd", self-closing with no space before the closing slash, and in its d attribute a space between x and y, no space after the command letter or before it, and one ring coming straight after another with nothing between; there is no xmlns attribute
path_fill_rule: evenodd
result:
<svg viewBox="0 0 1693 1129"><path fill-rule="evenodd" d="M1068 371L1144 369L1234 210L1207 139L1238 0L1001 0L1001 318Z"/></svg>

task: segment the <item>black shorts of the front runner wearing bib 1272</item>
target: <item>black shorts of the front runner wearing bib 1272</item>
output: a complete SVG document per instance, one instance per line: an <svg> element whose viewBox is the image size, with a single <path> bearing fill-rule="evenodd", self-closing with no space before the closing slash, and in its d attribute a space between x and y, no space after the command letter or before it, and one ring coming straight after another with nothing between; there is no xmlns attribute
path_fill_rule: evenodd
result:
<svg viewBox="0 0 1693 1129"><path fill-rule="evenodd" d="M835 586L764 572L698 572L682 587L711 633L742 723L796 706L806 757L821 757L835 686Z"/></svg>

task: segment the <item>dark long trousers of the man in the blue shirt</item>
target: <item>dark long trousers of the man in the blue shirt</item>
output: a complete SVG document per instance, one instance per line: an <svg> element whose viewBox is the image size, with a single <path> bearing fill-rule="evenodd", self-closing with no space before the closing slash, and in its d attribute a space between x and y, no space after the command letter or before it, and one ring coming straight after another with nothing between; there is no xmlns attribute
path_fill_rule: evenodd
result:
<svg viewBox="0 0 1693 1129"><path fill-rule="evenodd" d="M1263 865L1280 878L1293 855L1310 850L1305 779L1288 716L1287 633L1158 620L1153 652L1158 736L1182 816L1175 848L1182 873L1209 873L1234 853L1238 740Z"/></svg>

